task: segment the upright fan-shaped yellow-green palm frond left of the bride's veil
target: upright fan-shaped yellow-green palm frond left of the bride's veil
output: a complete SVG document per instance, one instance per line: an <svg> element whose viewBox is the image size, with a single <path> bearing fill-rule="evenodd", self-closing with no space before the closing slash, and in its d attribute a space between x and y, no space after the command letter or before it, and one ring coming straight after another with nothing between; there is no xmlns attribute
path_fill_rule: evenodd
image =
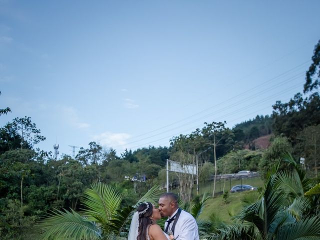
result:
<svg viewBox="0 0 320 240"><path fill-rule="evenodd" d="M105 224L112 219L121 200L121 194L112 186L103 183L92 184L91 188L84 191L83 205L87 207L84 212Z"/></svg>

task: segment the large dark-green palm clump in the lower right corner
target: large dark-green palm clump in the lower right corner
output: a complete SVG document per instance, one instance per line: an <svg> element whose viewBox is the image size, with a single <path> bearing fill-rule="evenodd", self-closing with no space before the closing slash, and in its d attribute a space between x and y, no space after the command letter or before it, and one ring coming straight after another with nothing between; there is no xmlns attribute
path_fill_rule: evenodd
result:
<svg viewBox="0 0 320 240"><path fill-rule="evenodd" d="M240 224L217 229L211 239L320 239L320 216L314 211L319 194L305 195L311 186L305 170L290 154L284 161L268 173L259 199L234 217Z"/></svg>

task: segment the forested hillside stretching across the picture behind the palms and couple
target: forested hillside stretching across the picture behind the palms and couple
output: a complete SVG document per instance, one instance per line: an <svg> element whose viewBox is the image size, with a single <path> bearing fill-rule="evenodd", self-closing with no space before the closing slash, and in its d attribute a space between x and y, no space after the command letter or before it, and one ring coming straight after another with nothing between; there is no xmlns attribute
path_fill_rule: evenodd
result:
<svg viewBox="0 0 320 240"><path fill-rule="evenodd" d="M35 223L53 209L81 209L83 192L92 183L107 183L122 193L121 204L132 205L155 183L164 182L166 159L181 164L199 164L199 180L208 175L259 171L264 179L281 157L292 153L308 176L318 180L320 167L320 41L315 46L312 64L306 73L304 93L289 102L275 102L269 115L236 124L204 122L189 134L170 139L170 145L126 149L117 154L91 141L75 157L55 159L51 152L37 148L45 140L30 117L16 117L0 127L0 238L30 239ZM11 114L10 108L0 109ZM254 139L273 134L267 149L252 146ZM244 145L250 149L244 149ZM291 162L293 165L294 162ZM193 200L195 178L170 175L170 187L177 187L182 200ZM212 197L215 190L213 188ZM276 195L276 194L275 194ZM244 214L244 213L243 213Z"/></svg>

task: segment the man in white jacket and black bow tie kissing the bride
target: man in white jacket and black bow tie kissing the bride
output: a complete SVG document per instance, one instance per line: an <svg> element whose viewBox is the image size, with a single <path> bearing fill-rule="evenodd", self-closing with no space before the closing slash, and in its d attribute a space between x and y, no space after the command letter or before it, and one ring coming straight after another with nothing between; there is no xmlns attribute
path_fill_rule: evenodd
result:
<svg viewBox="0 0 320 240"><path fill-rule="evenodd" d="M161 216L169 217L164 223L166 233L171 232L177 240L199 240L198 226L194 217L179 208L174 193L163 193L158 203Z"/></svg>

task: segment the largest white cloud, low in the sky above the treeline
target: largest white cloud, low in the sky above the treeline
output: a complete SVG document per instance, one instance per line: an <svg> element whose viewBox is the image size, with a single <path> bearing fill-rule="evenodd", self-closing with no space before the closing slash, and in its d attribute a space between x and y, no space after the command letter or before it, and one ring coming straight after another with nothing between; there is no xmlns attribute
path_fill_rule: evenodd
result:
<svg viewBox="0 0 320 240"><path fill-rule="evenodd" d="M101 145L108 147L124 145L128 138L130 138L128 133L112 133L108 131L93 136L95 141L98 141Z"/></svg>

